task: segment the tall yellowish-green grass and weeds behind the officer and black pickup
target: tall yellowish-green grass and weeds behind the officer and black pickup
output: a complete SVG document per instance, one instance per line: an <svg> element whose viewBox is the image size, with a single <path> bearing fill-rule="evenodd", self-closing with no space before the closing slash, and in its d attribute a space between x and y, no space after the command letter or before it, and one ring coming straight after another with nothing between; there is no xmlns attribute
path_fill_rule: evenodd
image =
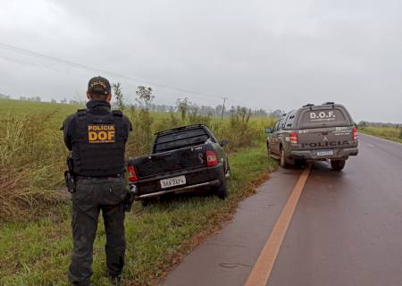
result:
<svg viewBox="0 0 402 286"><path fill-rule="evenodd" d="M57 209L66 196L63 171L68 151L59 130L66 110L52 105L40 112L19 114L9 110L0 116L0 221L27 219ZM71 111L69 107L68 112ZM133 132L127 145L127 156L149 154L154 133L180 125L203 123L218 139L230 141L227 150L238 151L264 140L264 128L272 127L267 117L252 117L247 110L234 110L230 118L197 114L188 110L181 114L155 114L147 108L126 108Z"/></svg>

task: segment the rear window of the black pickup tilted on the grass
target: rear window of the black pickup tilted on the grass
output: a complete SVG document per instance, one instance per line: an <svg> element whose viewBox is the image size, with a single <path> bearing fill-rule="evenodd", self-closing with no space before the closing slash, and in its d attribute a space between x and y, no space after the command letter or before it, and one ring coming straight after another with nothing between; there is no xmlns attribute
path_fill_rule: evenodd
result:
<svg viewBox="0 0 402 286"><path fill-rule="evenodd" d="M204 144L207 139L209 139L209 135L203 128L161 134L155 140L154 152L158 153L180 147Z"/></svg>

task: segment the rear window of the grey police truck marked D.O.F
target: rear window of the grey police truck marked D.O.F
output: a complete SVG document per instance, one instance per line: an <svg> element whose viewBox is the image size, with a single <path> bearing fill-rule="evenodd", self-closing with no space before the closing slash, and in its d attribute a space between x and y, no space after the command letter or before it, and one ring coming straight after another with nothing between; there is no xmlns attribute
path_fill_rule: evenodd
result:
<svg viewBox="0 0 402 286"><path fill-rule="evenodd" d="M298 128L347 126L348 114L340 108L306 110L300 114Z"/></svg>

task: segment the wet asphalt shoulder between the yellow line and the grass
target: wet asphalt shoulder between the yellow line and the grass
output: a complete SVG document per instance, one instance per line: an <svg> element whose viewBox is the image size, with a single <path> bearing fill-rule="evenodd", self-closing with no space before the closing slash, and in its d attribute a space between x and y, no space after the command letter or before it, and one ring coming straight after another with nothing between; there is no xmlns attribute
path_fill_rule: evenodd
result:
<svg viewBox="0 0 402 286"><path fill-rule="evenodd" d="M271 174L222 231L195 248L163 285L243 285L293 189L298 170Z"/></svg>

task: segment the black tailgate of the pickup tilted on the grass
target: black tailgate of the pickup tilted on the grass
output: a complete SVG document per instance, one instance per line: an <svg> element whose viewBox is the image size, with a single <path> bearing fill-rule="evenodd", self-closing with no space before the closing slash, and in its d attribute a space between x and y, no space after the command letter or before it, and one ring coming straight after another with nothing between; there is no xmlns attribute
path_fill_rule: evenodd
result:
<svg viewBox="0 0 402 286"><path fill-rule="evenodd" d="M146 179L165 172L191 170L205 166L205 150L203 146L188 147L151 156L136 158L139 179Z"/></svg>

